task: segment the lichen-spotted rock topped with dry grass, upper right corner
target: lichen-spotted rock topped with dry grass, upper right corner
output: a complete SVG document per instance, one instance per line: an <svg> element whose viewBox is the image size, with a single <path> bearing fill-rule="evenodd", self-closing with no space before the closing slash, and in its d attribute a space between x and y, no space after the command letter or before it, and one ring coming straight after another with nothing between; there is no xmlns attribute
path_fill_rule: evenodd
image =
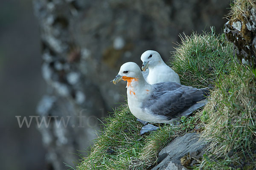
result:
<svg viewBox="0 0 256 170"><path fill-rule="evenodd" d="M256 1L235 0L230 20L225 24L226 39L234 44L236 56L256 67Z"/></svg>

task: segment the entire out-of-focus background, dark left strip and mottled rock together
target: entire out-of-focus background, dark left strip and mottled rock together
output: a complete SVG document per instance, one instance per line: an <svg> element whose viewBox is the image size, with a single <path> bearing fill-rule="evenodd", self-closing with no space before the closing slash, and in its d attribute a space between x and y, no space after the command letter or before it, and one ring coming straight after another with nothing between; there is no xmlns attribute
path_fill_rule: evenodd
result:
<svg viewBox="0 0 256 170"><path fill-rule="evenodd" d="M1 0L2 169L74 166L100 129L97 118L123 102L120 65L146 50L168 62L179 34L226 22L229 0ZM39 34L40 31L40 34ZM19 128L15 116L40 116ZM29 118L29 117L28 117ZM44 121L44 120L43 120ZM40 132L40 133L39 133Z"/></svg>

